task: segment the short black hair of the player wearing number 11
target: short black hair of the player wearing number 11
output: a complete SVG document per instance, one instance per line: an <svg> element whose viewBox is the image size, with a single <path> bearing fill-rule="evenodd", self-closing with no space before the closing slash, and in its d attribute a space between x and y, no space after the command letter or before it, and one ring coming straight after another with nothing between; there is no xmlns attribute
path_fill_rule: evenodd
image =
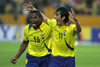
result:
<svg viewBox="0 0 100 67"><path fill-rule="evenodd" d="M67 8L65 8L65 7L59 7L57 10L56 10L56 12L60 12L60 15L61 15L61 18L63 17L63 16L65 16L65 19L64 19L64 22L65 23L67 23L68 21L69 21L69 11L68 11L68 9Z"/></svg>

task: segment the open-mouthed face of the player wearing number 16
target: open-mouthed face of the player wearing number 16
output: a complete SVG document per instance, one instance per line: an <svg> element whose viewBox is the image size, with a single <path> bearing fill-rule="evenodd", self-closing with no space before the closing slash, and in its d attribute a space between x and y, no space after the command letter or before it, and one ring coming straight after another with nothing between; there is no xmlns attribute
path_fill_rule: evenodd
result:
<svg viewBox="0 0 100 67"><path fill-rule="evenodd" d="M33 28L37 29L40 26L42 20L41 20L41 18L38 17L37 14L32 13L30 15L30 22L32 23Z"/></svg>

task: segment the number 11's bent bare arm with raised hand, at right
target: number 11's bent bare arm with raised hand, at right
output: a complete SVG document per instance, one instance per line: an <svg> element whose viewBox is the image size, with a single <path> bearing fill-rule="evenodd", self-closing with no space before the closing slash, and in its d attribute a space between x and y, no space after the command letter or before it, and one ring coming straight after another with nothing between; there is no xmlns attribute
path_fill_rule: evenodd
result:
<svg viewBox="0 0 100 67"><path fill-rule="evenodd" d="M78 19L75 16L74 10L71 8L71 12L69 12L71 18L75 21L76 27L74 28L75 33L79 33L82 31L81 25L78 21Z"/></svg>

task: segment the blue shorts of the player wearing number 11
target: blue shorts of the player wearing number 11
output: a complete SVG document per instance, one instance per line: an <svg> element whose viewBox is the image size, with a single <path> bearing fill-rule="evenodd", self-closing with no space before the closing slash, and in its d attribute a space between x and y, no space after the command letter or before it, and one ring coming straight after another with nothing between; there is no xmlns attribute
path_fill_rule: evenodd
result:
<svg viewBox="0 0 100 67"><path fill-rule="evenodd" d="M75 67L75 57L51 56L49 67Z"/></svg>

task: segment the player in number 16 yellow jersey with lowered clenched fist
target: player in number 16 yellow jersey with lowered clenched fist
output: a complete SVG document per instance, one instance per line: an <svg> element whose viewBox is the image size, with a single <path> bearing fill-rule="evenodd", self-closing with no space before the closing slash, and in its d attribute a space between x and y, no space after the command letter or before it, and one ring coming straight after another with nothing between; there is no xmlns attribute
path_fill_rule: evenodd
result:
<svg viewBox="0 0 100 67"><path fill-rule="evenodd" d="M43 22L41 13L31 11L30 24L24 28L24 40L19 51L10 61L15 64L29 44L26 67L48 67L50 61L51 27Z"/></svg>

